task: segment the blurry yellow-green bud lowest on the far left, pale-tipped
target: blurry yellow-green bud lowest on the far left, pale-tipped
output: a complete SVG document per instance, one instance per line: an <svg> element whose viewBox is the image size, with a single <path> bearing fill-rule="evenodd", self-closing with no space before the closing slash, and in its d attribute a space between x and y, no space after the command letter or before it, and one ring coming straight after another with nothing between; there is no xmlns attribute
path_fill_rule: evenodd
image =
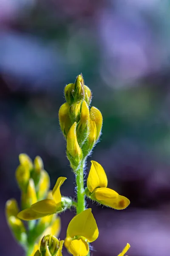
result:
<svg viewBox="0 0 170 256"><path fill-rule="evenodd" d="M24 244L26 242L26 229L23 222L19 218L11 216L8 219L8 225L17 241Z"/></svg>

